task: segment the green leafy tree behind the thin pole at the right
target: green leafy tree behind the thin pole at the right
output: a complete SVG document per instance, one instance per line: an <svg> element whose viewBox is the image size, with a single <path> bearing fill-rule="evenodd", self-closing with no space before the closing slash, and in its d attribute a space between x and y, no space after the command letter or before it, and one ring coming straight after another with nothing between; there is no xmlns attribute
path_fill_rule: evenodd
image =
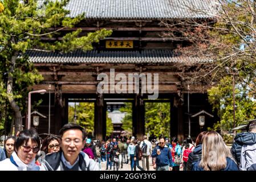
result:
<svg viewBox="0 0 256 182"><path fill-rule="evenodd" d="M256 102L250 96L248 89L235 85L235 125L256 117ZM220 121L214 124L214 130L229 131L233 128L233 80L231 76L224 77L217 86L208 90L210 104L218 111Z"/></svg>

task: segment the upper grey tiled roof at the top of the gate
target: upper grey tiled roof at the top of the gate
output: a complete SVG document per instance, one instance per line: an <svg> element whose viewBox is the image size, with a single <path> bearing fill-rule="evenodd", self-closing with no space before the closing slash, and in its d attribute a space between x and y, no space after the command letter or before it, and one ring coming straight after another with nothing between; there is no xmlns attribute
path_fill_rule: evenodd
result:
<svg viewBox="0 0 256 182"><path fill-rule="evenodd" d="M89 19L172 19L211 18L217 7L216 0L70 0L66 9Z"/></svg>

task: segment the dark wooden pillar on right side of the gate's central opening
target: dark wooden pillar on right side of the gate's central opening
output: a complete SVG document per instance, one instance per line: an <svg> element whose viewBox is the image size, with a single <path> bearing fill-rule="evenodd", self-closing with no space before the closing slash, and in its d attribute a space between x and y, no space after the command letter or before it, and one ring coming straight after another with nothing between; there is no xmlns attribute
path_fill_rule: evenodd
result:
<svg viewBox="0 0 256 182"><path fill-rule="evenodd" d="M133 135L136 135L137 139L143 140L143 135L145 134L145 105L143 98L140 95L136 95L135 98L135 122L133 122L133 127L135 132Z"/></svg>

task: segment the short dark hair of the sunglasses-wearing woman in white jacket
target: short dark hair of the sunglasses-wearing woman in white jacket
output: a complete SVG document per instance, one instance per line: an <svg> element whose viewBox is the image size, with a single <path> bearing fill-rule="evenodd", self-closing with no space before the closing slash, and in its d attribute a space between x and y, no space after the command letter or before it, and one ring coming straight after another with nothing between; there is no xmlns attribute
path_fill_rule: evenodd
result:
<svg viewBox="0 0 256 182"><path fill-rule="evenodd" d="M21 147L24 143L27 144L27 142L29 142L29 139L38 144L38 147L40 147L41 142L39 135L34 128L31 128L29 130L23 130L21 133L19 133L14 143L14 150L17 152L19 147Z"/></svg>

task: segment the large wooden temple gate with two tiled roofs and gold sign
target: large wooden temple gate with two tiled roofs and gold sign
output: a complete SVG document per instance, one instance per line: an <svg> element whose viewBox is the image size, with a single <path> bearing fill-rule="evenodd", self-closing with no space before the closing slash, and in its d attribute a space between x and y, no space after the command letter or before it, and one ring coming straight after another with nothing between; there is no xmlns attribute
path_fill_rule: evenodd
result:
<svg viewBox="0 0 256 182"><path fill-rule="evenodd" d="M102 1L102 2L100 2ZM162 33L169 28L161 26L163 19L175 23L176 19L193 18L186 9L174 8L170 1L111 1L115 5L108 6L104 0L99 0L95 5L92 0L87 0L86 6L80 5L83 1L71 0L67 9L71 10L71 16L86 13L83 20L74 28L64 28L60 35L52 38L44 37L45 41L61 39L62 34L82 28L81 35L87 35L90 31L100 28L113 30L110 37L93 44L94 50L86 53L78 50L72 53L61 54L56 52L30 51L30 60L34 63L44 80L33 86L32 89L46 89L51 92L51 133L58 133L60 127L68 121L69 99L92 99L95 102L95 137L105 138L106 100L108 98L129 98L133 100L133 134L141 138L144 133L145 105L148 94L136 93L97 93L100 73L109 74L110 69L115 69L115 74L123 73L128 77L129 73L154 73L159 74L159 99L168 99L170 102L170 136L178 136L181 140L188 137L189 114L200 110L212 111L208 104L207 84L198 82L190 85L180 76L189 76L193 69L185 71L180 65L193 63L210 63L210 59L200 57L185 57L174 55L173 50L177 46L185 47L188 41L164 38ZM198 7L211 8L209 2L196 1ZM109 1L110 3L110 1ZM128 3L128 4L127 4ZM157 5L156 5L157 4ZM112 7L109 9L109 7ZM129 7L129 9L127 9ZM76 10L77 9L77 10ZM81 10L83 12L81 12ZM174 11L175 10L175 11ZM120 14L120 11L122 14ZM132 12L131 12L132 11ZM100 13L101 12L101 13ZM179 14L176 14L176 13ZM211 19L212 17L200 16L199 19ZM55 28L52 28L55 30ZM116 81L118 82L118 81ZM115 83L116 83L115 82ZM49 85L51 88L49 89ZM190 113L188 111L188 92L190 94ZM34 100L43 98L43 103L38 107L40 113L48 113L48 96L34 94ZM214 113L216 116L216 113ZM191 135L195 137L200 132L198 118L191 118ZM205 127L212 126L215 118L209 118ZM38 127L39 133L47 133L48 119L43 119Z"/></svg>

